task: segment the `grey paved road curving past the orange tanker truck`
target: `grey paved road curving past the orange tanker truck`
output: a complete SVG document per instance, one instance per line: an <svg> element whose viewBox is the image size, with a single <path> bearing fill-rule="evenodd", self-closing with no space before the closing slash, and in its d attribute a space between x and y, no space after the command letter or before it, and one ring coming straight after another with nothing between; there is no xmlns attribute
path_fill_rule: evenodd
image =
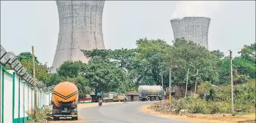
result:
<svg viewBox="0 0 256 123"><path fill-rule="evenodd" d="M187 123L184 121L176 121L164 117L158 117L145 112L141 112L139 108L142 105L151 104L153 102L128 102L121 104L103 105L103 107L82 108L79 115L86 118L86 122L95 123L120 123L120 122L141 122L141 123Z"/></svg>

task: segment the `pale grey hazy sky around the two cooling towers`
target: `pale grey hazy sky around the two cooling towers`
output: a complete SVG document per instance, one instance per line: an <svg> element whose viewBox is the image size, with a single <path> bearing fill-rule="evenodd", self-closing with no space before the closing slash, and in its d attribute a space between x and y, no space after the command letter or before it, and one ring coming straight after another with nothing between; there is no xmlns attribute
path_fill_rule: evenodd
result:
<svg viewBox="0 0 256 123"><path fill-rule="evenodd" d="M226 53L255 42L255 1L105 1L105 47L132 49L144 37L172 45L170 19L193 15L211 18L209 50ZM52 66L58 33L55 1L1 2L1 45L8 52L31 52L34 46L39 61Z"/></svg>

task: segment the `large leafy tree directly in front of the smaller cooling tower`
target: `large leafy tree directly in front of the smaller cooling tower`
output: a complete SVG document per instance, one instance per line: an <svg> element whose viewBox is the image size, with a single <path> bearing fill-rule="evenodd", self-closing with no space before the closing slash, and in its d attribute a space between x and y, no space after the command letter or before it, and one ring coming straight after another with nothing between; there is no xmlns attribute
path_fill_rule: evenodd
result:
<svg viewBox="0 0 256 123"><path fill-rule="evenodd" d="M173 71L175 83L186 83L187 69L189 68L189 83L196 80L196 71L202 81L211 83L218 81L217 61L218 58L205 47L199 46L192 41L177 39L170 48L169 66Z"/></svg>

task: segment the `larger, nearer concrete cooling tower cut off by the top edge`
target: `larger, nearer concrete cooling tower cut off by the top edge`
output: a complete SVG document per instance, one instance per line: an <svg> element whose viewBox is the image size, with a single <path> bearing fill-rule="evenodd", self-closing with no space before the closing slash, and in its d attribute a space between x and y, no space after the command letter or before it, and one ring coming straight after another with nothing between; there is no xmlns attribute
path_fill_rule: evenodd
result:
<svg viewBox="0 0 256 123"><path fill-rule="evenodd" d="M105 49L102 31L104 2L56 1L60 29L52 73L67 60L87 63L88 59L80 49Z"/></svg>

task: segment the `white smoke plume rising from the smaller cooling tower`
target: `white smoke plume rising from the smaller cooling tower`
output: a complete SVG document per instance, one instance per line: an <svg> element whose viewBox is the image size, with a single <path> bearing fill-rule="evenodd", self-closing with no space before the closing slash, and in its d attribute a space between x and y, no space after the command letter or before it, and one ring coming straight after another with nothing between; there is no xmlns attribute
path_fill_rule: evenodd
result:
<svg viewBox="0 0 256 123"><path fill-rule="evenodd" d="M209 17L210 13L217 11L219 5L219 1L179 1L172 13L172 19L185 16Z"/></svg>

